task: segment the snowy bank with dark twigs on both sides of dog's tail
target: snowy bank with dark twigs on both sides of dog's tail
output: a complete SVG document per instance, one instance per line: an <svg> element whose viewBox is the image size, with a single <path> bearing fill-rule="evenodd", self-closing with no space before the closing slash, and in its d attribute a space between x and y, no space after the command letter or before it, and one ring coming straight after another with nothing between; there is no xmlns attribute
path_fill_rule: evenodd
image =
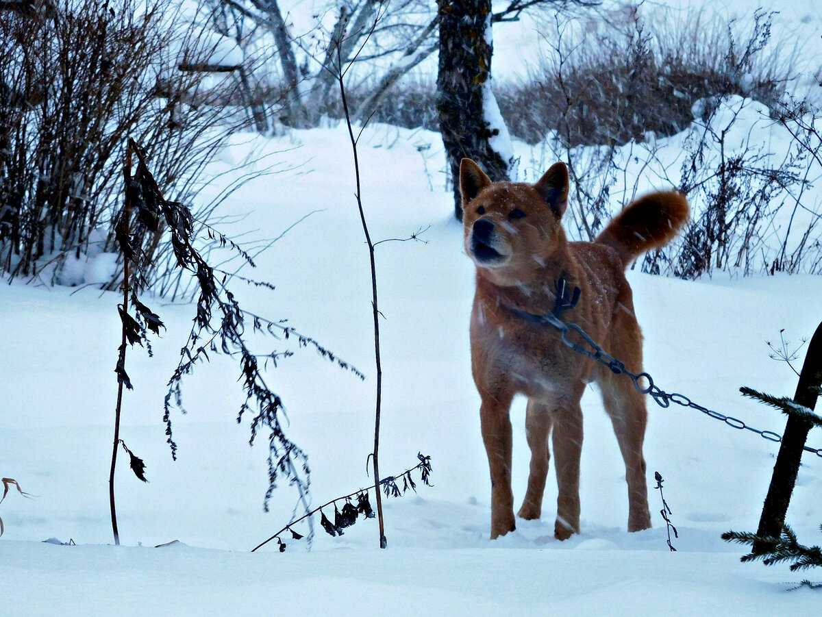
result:
<svg viewBox="0 0 822 617"><path fill-rule="evenodd" d="M815 125L822 114L808 104L783 110L732 95L699 101L690 125L670 137L649 131L640 142L569 148L552 133L529 149L524 179L548 162L568 163L566 228L584 241L635 196L670 187L685 193L690 223L674 242L637 262L644 272L686 279L718 271L816 274L822 139Z"/></svg>

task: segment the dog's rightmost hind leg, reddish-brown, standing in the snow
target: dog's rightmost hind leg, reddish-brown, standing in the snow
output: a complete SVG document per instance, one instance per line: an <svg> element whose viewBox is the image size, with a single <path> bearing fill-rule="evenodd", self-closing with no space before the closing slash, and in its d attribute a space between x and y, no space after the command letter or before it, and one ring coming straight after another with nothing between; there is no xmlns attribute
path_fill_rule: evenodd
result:
<svg viewBox="0 0 822 617"><path fill-rule="evenodd" d="M638 367L630 367L630 370L640 371ZM645 425L648 421L644 394L636 391L633 381L626 375L602 371L598 382L603 392L605 411L611 417L625 461L625 477L628 482L628 531L639 532L651 526L648 480L642 455Z"/></svg>

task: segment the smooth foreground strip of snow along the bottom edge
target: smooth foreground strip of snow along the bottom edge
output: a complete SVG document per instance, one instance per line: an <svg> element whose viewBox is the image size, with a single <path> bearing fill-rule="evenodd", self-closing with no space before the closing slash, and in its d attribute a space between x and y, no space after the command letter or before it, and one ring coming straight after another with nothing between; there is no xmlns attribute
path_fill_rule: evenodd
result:
<svg viewBox="0 0 822 617"><path fill-rule="evenodd" d="M615 555L609 550L360 548L356 555L338 550L318 556L7 541L2 552L15 564L4 576L11 592L3 610L31 617L152 611L179 617L766 615L780 614L786 605L794 615L810 615L818 601L806 590L774 593L784 584L773 569L754 568L754 575L741 579L734 573L741 566L728 554L635 551L630 564L608 573L603 563L613 566ZM447 573L459 573L459 582ZM59 590L55 575L64 584ZM27 597L21 589L37 589L39 596ZM55 593L51 608L43 602L49 593Z"/></svg>

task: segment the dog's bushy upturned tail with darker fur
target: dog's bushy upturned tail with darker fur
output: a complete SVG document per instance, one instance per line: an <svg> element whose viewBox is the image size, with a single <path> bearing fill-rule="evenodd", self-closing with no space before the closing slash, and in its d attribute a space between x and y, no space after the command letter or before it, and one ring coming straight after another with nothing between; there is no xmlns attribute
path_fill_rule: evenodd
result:
<svg viewBox="0 0 822 617"><path fill-rule="evenodd" d="M681 193L651 193L627 205L594 242L615 249L627 268L644 252L671 242L689 216L688 200Z"/></svg>

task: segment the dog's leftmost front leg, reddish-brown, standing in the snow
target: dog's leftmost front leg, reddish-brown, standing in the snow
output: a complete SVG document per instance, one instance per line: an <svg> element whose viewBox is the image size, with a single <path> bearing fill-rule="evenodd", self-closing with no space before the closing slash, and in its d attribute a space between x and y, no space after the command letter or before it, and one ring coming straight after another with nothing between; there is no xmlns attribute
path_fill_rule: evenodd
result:
<svg viewBox="0 0 822 617"><path fill-rule="evenodd" d="M510 395L483 395L479 408L483 441L491 468L491 539L515 529L511 492Z"/></svg>

